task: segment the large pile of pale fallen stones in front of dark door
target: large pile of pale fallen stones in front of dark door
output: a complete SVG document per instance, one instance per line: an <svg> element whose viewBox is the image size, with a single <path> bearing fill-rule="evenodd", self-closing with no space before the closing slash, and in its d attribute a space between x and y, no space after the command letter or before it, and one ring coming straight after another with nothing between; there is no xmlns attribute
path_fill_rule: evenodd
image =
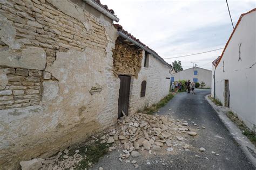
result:
<svg viewBox="0 0 256 170"><path fill-rule="evenodd" d="M183 133L196 136L196 132L189 131L187 122L181 122L173 118L159 115L136 114L124 116L118 120L115 128L110 129L101 142L123 144L123 154L119 160L138 157L139 150L147 150L156 154L164 145L168 146L167 151L173 151L173 143L184 141ZM113 146L114 147L114 146ZM185 146L188 148L189 146ZM114 147L115 148L115 147ZM110 148L109 151L111 151Z"/></svg>

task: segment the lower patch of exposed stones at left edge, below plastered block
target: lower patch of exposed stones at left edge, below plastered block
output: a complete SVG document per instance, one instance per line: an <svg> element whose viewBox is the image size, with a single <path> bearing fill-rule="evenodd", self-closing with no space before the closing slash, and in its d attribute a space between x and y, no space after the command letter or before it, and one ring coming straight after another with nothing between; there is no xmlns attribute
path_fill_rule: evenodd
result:
<svg viewBox="0 0 256 170"><path fill-rule="evenodd" d="M38 105L41 101L41 70L3 68L8 83L0 90L0 109L10 109Z"/></svg>

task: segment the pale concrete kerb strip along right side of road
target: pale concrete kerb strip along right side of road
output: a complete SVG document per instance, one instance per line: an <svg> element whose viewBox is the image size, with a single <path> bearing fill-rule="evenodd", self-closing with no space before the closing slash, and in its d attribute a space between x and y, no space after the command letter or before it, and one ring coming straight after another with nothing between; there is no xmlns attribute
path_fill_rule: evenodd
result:
<svg viewBox="0 0 256 170"><path fill-rule="evenodd" d="M221 121L224 123L228 131L232 134L232 137L237 141L239 146L241 147L242 151L245 153L246 157L251 161L251 163L256 167L256 158L253 157L251 152L248 150L247 147L251 148L256 154L256 147L251 143L251 141L242 134L241 130L235 125L230 118L228 118L225 114L226 108L215 105L208 95L205 96L205 100L212 106L212 108L217 112L218 116L220 117Z"/></svg>

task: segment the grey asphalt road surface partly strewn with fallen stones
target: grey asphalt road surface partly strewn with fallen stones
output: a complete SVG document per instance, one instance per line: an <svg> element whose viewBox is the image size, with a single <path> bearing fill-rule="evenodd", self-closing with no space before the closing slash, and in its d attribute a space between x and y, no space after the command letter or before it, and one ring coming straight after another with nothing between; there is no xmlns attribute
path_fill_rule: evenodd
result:
<svg viewBox="0 0 256 170"><path fill-rule="evenodd" d="M218 114L205 100L204 96L210 92L210 90L196 89L196 95L179 93L158 112L158 115L187 121L189 126L198 132L196 137L187 140L187 144L192 146L189 151L179 149L176 153L169 155L138 157L135 160L139 167L134 168L130 163L120 162L118 155L122 151L116 150L105 155L92 169L99 169L99 167L104 169L255 169L221 122ZM200 147L204 147L206 151L200 152ZM130 160L134 159L130 158Z"/></svg>

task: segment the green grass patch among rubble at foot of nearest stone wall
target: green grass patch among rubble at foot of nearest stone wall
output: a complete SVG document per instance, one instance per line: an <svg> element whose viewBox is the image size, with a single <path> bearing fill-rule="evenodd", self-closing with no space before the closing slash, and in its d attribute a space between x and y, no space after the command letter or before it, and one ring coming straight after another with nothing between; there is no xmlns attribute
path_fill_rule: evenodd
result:
<svg viewBox="0 0 256 170"><path fill-rule="evenodd" d="M100 140L94 141L93 143L86 143L84 145L79 145L78 147L73 147L69 151L68 155L74 155L76 150L79 150L79 154L83 155L83 160L76 165L75 169L85 169L89 168L89 163L93 165L96 164L101 157L103 157L109 151L109 147L112 144L100 143ZM85 158L86 155L86 158Z"/></svg>

